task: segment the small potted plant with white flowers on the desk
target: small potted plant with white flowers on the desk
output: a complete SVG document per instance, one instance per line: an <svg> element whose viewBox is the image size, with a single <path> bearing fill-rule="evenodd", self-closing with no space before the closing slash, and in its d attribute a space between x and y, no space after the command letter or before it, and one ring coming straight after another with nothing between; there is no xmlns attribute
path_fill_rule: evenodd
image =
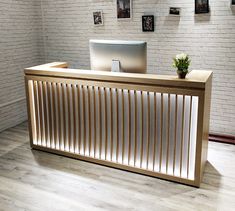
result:
<svg viewBox="0 0 235 211"><path fill-rule="evenodd" d="M173 58L173 67L177 68L178 77L183 79L188 74L188 67L191 63L189 56L185 53L181 53Z"/></svg>

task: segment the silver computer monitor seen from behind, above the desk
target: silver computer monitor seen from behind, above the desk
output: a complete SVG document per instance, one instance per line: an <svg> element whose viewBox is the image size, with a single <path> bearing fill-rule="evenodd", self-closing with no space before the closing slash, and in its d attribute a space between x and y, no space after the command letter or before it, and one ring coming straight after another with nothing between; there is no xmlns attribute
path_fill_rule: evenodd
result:
<svg viewBox="0 0 235 211"><path fill-rule="evenodd" d="M90 40L91 69L146 73L147 43L143 41Z"/></svg>

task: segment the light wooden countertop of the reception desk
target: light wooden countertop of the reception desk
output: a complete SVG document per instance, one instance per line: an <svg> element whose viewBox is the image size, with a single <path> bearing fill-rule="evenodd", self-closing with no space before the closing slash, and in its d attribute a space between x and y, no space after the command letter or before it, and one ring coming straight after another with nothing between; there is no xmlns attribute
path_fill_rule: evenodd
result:
<svg viewBox="0 0 235 211"><path fill-rule="evenodd" d="M177 75L117 73L69 69L66 62L53 62L25 69L26 75L85 79L106 82L122 82L128 84L156 85L170 87L184 87L205 89L206 82L212 77L212 71L192 70L186 79L179 79Z"/></svg>

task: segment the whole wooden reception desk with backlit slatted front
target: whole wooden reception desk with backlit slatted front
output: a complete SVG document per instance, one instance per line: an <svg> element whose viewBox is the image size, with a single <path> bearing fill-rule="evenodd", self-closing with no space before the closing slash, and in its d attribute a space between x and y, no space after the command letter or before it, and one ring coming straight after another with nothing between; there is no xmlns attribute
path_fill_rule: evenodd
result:
<svg viewBox="0 0 235 211"><path fill-rule="evenodd" d="M25 69L33 149L199 187L207 161L211 71L186 79Z"/></svg>

